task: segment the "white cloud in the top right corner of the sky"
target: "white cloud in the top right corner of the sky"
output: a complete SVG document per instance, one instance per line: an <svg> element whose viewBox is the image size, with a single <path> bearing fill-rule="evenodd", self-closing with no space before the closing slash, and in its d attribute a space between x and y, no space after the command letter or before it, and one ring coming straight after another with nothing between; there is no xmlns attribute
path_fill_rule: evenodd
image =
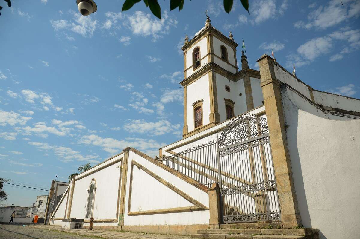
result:
<svg viewBox="0 0 360 239"><path fill-rule="evenodd" d="M319 8L311 11L308 15L308 22L298 21L294 23L297 28L319 28L325 29L333 27L351 18L357 18L360 15L360 1L347 0L344 5L338 0L331 0L327 5L320 5ZM315 7L312 6L311 7ZM309 8L310 8L309 6Z"/></svg>

